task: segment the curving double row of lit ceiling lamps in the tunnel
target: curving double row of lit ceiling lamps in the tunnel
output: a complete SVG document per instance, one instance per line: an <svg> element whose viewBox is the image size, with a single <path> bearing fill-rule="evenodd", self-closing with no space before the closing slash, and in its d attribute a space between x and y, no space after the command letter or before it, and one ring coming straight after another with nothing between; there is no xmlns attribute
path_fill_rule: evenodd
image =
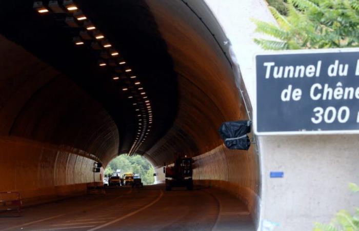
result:
<svg viewBox="0 0 359 231"><path fill-rule="evenodd" d="M150 128L152 127L153 115L150 100L146 95L146 91L141 86L141 82L136 80L136 75L132 74L132 69L126 66L126 61L119 58L119 53L112 47L112 44L105 38L105 35L97 29L97 27L88 20L87 16L79 10L72 0L64 0L63 4L59 1L49 1L48 7L44 6L43 2L34 2L33 8L40 14L46 14L52 11L53 13L66 13L65 23L72 28L86 28L81 30L79 36L73 38L76 46L83 46L89 41L91 48L100 51L100 56L103 60L98 60L99 67L112 66L116 74L112 76L114 81L119 79L130 79L126 81L127 87L123 87L123 91L129 92L128 99L135 99L132 105L137 113L138 128L136 131L136 138L128 152L128 155L136 153L138 148L146 140ZM107 60L107 61L105 61ZM119 76L118 74L123 74ZM127 75L129 74L129 76Z"/></svg>

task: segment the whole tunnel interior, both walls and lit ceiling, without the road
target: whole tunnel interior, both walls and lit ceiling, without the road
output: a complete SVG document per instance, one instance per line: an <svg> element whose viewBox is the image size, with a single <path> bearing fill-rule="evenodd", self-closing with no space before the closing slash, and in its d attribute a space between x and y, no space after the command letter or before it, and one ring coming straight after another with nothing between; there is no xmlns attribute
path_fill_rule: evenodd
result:
<svg viewBox="0 0 359 231"><path fill-rule="evenodd" d="M35 2L1 3L0 191L24 204L82 195L118 155L145 157L161 182L180 153L195 185L257 219L256 146L230 150L218 133L250 120L251 105L204 1Z"/></svg>

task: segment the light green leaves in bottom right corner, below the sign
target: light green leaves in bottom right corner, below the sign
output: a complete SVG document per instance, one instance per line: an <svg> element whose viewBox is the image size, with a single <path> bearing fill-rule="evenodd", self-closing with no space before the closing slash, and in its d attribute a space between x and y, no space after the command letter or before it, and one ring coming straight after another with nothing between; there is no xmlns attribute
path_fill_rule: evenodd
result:
<svg viewBox="0 0 359 231"><path fill-rule="evenodd" d="M349 183L353 192L359 191L359 186ZM315 223L314 231L359 231L359 208L351 215L347 210L340 210L330 224Z"/></svg>

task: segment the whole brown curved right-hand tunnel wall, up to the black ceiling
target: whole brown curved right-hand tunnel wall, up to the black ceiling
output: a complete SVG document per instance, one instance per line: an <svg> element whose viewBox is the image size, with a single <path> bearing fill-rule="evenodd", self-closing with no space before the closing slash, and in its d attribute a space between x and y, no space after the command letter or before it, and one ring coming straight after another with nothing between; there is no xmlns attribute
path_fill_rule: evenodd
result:
<svg viewBox="0 0 359 231"><path fill-rule="evenodd" d="M229 54L228 38L204 2L147 3L167 43L179 85L174 125L145 154L157 167L157 180L164 180L161 166L171 163L176 152L192 156L196 184L230 191L257 220L260 163L255 145L248 151L229 150L217 131L225 121L248 120L237 86L240 74L224 53Z"/></svg>

